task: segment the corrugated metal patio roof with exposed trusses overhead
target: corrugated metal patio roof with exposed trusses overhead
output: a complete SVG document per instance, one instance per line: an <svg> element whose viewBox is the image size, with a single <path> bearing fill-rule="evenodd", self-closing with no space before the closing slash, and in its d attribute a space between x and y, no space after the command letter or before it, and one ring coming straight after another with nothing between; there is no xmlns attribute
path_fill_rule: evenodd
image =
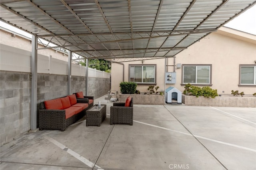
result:
<svg viewBox="0 0 256 170"><path fill-rule="evenodd" d="M254 4L254 0L1 0L0 19L89 59L158 58L173 57Z"/></svg>

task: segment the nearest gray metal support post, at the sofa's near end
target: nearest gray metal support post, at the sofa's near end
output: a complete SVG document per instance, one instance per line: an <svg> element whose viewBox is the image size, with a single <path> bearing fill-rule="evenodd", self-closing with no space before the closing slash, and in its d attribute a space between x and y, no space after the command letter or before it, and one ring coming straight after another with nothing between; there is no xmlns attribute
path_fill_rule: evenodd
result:
<svg viewBox="0 0 256 170"><path fill-rule="evenodd" d="M32 35L30 129L36 129L37 115L37 37Z"/></svg>

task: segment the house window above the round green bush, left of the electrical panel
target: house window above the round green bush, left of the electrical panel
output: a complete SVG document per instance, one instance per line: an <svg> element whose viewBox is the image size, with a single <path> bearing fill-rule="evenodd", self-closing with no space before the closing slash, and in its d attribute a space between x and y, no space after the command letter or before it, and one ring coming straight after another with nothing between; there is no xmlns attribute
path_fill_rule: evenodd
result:
<svg viewBox="0 0 256 170"><path fill-rule="evenodd" d="M129 65L130 82L155 84L156 65Z"/></svg>

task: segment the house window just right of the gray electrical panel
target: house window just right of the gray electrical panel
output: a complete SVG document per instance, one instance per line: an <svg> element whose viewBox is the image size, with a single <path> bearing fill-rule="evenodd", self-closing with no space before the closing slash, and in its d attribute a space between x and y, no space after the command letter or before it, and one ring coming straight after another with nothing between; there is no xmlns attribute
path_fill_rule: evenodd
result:
<svg viewBox="0 0 256 170"><path fill-rule="evenodd" d="M182 84L210 84L212 65L182 65Z"/></svg>

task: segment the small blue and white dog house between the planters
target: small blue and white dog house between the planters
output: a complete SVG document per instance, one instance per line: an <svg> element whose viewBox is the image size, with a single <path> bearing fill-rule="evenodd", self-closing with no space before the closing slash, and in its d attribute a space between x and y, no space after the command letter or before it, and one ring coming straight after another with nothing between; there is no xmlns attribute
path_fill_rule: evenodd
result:
<svg viewBox="0 0 256 170"><path fill-rule="evenodd" d="M168 104L182 104L182 92L180 90L169 87L165 90L165 102Z"/></svg>

